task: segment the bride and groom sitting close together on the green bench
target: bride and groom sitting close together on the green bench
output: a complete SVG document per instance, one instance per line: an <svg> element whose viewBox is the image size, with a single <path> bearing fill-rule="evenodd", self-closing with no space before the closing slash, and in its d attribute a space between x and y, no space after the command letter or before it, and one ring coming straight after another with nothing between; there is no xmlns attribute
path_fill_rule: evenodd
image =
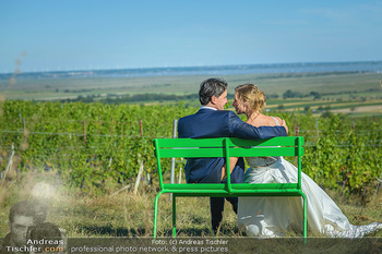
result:
<svg viewBox="0 0 382 254"><path fill-rule="evenodd" d="M181 118L179 138L239 137L242 140L286 136L285 121L262 114L265 95L255 85L236 87L234 107L237 114L244 113L242 122L235 112L224 110L227 104L227 83L219 78L202 82L201 109ZM241 157L229 158L231 183L296 183L297 168L282 156L247 157L250 168L244 173ZM226 158L188 158L184 167L188 183L225 183ZM307 174L302 173L301 190L308 202L310 231L331 235L356 238L381 229L381 223L353 226L333 199ZM210 197L212 228L217 232L223 219L224 197ZM283 233L302 231L302 199L300 196L228 196L238 216L240 230L254 237L282 237Z"/></svg>

